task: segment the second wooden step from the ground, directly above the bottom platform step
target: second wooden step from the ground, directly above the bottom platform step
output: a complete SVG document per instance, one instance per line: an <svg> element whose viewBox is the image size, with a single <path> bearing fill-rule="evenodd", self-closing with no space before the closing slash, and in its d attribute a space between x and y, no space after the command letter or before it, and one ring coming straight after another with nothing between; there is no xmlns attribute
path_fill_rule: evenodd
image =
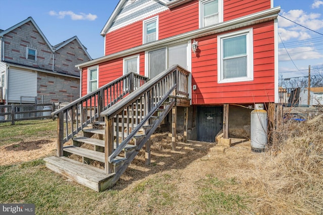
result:
<svg viewBox="0 0 323 215"><path fill-rule="evenodd" d="M64 152L68 152L74 155L79 155L84 158L89 158L91 160L99 161L104 163L104 153L96 152L93 150L83 149L77 146L66 146L63 148ZM126 158L117 156L115 160L112 162L113 164L118 164L121 161L126 160Z"/></svg>

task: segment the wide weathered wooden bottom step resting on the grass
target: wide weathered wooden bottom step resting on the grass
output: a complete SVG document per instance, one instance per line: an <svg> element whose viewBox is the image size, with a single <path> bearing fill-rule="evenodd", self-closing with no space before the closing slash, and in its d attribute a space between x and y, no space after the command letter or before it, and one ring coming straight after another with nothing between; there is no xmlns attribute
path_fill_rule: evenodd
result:
<svg viewBox="0 0 323 215"><path fill-rule="evenodd" d="M113 186L112 179L115 173L106 174L104 170L82 164L66 157L44 158L48 169L66 176L97 192L109 189Z"/></svg>

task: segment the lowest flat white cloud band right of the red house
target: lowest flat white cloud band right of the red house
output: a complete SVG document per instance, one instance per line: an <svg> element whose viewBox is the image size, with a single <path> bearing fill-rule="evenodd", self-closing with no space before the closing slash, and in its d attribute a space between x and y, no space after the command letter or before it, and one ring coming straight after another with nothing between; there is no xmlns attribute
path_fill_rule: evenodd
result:
<svg viewBox="0 0 323 215"><path fill-rule="evenodd" d="M323 57L323 54L314 50L315 47L297 47L287 48L287 51L293 60L308 60L308 59L319 59ZM290 61L285 48L278 50L278 56L280 61Z"/></svg>

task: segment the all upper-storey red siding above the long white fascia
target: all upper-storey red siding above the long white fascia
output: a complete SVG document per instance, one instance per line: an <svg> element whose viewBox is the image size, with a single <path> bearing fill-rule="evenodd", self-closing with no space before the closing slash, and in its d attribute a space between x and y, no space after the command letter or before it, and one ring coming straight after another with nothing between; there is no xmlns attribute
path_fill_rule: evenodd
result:
<svg viewBox="0 0 323 215"><path fill-rule="evenodd" d="M188 2L158 15L158 39L197 30L199 26L198 0ZM270 0L224 0L224 21L270 9ZM148 17L150 18L150 17ZM146 18L146 19L148 19ZM105 55L142 45L142 21L132 23L106 34Z"/></svg>

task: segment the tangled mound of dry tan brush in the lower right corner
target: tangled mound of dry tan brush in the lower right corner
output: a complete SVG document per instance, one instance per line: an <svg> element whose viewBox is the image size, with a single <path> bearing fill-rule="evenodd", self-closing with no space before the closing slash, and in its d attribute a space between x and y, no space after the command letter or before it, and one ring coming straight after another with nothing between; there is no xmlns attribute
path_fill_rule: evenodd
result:
<svg viewBox="0 0 323 215"><path fill-rule="evenodd" d="M323 115L288 121L274 133L277 151L253 161L241 182L261 214L323 213Z"/></svg>

